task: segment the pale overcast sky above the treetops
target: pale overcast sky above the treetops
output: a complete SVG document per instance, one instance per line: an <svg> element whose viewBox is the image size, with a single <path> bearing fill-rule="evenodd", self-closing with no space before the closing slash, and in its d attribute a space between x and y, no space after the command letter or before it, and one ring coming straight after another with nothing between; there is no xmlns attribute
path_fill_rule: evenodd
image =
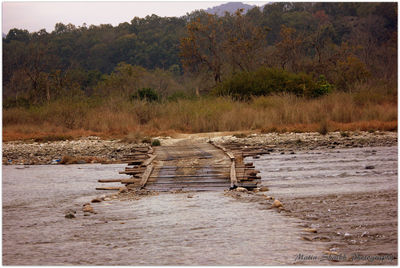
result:
<svg viewBox="0 0 400 268"><path fill-rule="evenodd" d="M207 9L228 1L138 1L138 2L3 2L2 31L12 28L36 32L54 30L57 22L75 26L130 22L135 16L183 16L196 9ZM236 1L240 2L240 1ZM242 1L251 5L264 5L266 1Z"/></svg>

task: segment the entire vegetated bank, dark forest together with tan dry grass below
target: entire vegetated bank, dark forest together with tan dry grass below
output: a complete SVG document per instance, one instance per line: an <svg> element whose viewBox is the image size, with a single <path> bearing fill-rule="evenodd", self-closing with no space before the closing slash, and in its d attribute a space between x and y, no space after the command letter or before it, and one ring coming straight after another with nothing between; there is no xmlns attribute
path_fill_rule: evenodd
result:
<svg viewBox="0 0 400 268"><path fill-rule="evenodd" d="M397 3L272 3L3 38L3 139L397 130Z"/></svg>

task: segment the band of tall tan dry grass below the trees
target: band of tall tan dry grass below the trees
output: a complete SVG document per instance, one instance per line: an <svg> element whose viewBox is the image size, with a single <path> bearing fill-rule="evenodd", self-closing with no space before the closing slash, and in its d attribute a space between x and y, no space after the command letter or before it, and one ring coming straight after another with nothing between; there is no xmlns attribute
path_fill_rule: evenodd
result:
<svg viewBox="0 0 400 268"><path fill-rule="evenodd" d="M3 110L3 139L52 136L144 137L176 132L262 130L305 132L397 130L397 96L372 91L334 93L319 99L291 95L250 102L199 98L146 103L111 99L101 104L54 103Z"/></svg>

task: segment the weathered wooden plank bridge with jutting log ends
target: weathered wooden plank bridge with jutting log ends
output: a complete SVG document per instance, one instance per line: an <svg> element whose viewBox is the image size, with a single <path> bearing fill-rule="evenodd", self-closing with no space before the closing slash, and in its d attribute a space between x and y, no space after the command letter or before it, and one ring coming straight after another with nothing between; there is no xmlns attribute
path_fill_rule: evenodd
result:
<svg viewBox="0 0 400 268"><path fill-rule="evenodd" d="M229 188L257 188L261 178L246 156L267 153L256 147L230 144L226 148L212 142L182 140L174 145L135 147L123 159L128 164L120 174L124 179L100 179L100 183L124 186L97 190L148 189L153 191L221 191Z"/></svg>

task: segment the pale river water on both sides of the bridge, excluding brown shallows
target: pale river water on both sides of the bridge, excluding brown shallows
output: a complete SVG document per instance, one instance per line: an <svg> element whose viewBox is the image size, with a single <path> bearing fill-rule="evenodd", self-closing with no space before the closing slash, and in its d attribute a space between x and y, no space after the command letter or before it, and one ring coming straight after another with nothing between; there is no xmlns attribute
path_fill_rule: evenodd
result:
<svg viewBox="0 0 400 268"><path fill-rule="evenodd" d="M251 159L274 196L397 189L397 147L273 153ZM373 169L366 169L373 166ZM97 179L125 165L3 166L5 265L279 265L299 253L302 222L223 192L161 193L82 204L102 193ZM77 211L66 219L68 209ZM313 263L315 265L315 263Z"/></svg>

